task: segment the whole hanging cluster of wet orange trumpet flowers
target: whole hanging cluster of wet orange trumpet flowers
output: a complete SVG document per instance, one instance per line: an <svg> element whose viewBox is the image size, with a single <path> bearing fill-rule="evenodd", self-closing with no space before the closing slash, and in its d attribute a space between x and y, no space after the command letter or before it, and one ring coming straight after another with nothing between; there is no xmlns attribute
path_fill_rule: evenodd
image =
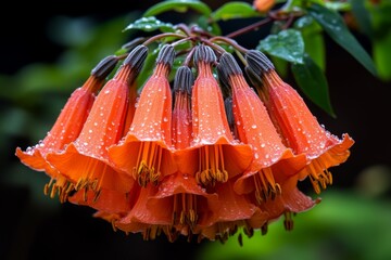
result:
<svg viewBox="0 0 391 260"><path fill-rule="evenodd" d="M353 140L320 126L262 52L241 49L241 66L216 43L189 41L185 52L160 46L143 86L147 43L118 67L123 57L104 58L47 136L16 156L51 178L46 194L144 239L224 242L239 229L264 234L281 216L291 230L291 214L318 202L297 183L310 179L320 193Z"/></svg>

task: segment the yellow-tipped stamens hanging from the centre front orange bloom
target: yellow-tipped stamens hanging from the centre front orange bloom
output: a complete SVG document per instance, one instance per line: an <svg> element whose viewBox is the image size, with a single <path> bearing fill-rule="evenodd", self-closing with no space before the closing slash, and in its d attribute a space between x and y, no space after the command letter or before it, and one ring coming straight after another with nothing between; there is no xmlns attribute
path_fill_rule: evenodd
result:
<svg viewBox="0 0 391 260"><path fill-rule="evenodd" d="M205 145L199 150L199 171L195 180L203 185L214 185L216 181L228 181L228 172L224 168L223 146Z"/></svg>

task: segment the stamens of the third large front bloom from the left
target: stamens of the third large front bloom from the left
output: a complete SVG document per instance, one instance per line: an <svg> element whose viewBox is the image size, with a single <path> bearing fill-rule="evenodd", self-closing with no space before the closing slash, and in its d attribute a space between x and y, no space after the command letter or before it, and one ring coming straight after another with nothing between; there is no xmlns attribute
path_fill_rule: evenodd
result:
<svg viewBox="0 0 391 260"><path fill-rule="evenodd" d="M136 167L133 169L133 177L140 186L147 186L148 182L157 184L161 176L163 150L152 142L141 142Z"/></svg>

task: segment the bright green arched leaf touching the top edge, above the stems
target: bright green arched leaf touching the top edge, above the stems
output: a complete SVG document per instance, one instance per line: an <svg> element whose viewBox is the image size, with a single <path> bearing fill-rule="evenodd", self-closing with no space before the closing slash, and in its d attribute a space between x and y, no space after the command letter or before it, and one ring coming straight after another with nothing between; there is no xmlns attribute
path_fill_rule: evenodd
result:
<svg viewBox="0 0 391 260"><path fill-rule="evenodd" d="M210 16L212 10L201 1L195 0L168 0L156 3L146 11L143 14L144 17L154 16L167 11L176 11L179 13L185 13L189 9L197 11L205 16Z"/></svg>

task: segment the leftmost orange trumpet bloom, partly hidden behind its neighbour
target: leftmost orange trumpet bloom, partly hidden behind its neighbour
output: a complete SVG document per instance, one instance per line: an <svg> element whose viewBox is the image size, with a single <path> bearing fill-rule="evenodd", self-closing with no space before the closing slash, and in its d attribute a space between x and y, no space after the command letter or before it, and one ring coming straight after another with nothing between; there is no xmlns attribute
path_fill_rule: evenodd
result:
<svg viewBox="0 0 391 260"><path fill-rule="evenodd" d="M45 186L46 195L51 187L50 196L54 197L55 193L59 192L60 200L65 202L67 194L73 190L74 185L48 162L47 154L61 152L67 144L77 139L97 92L116 63L115 56L108 56L102 60L91 70L90 77L83 87L72 93L46 138L33 148L28 147L26 152L22 152L20 147L16 148L16 156L23 164L34 170L45 171L51 177L50 182Z"/></svg>

